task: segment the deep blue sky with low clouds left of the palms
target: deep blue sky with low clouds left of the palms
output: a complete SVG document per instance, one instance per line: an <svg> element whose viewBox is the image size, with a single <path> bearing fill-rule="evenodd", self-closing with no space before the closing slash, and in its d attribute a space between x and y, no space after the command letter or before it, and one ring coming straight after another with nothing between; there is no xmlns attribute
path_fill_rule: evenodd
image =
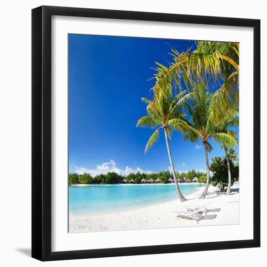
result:
<svg viewBox="0 0 267 267"><path fill-rule="evenodd" d="M194 41L98 35L68 35L69 172L96 175L158 172L170 166L164 133L148 153L153 129L137 128L146 115L141 97L151 97L155 62L167 65L171 48L196 48ZM215 155L223 156L211 141ZM179 133L170 141L177 170L205 169L202 142L184 142Z"/></svg>

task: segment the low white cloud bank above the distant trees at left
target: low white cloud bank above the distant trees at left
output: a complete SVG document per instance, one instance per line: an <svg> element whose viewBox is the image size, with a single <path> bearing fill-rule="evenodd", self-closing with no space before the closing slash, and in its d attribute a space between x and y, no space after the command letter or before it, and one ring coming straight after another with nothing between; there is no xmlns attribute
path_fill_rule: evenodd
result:
<svg viewBox="0 0 267 267"><path fill-rule="evenodd" d="M117 167L117 163L111 159L108 162L103 162L101 165L97 165L94 169L87 169L84 167L76 167L75 172L77 174L83 174L83 173L89 173L93 177L95 177L98 174L106 174L108 172L116 172L117 174L126 176L131 172L141 172L141 173L152 173L150 170L142 170L141 168L137 167L136 169L133 169L131 167L126 166L125 169L121 169Z"/></svg>

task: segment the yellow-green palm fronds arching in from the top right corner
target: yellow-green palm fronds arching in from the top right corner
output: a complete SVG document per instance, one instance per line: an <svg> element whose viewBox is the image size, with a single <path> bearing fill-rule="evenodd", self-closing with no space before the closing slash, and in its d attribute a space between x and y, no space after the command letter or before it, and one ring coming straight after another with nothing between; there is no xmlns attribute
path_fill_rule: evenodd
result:
<svg viewBox="0 0 267 267"><path fill-rule="evenodd" d="M174 61L166 67L157 63L154 91L157 91L165 79L170 77L176 86L183 90L182 81L189 92L196 84L203 87L220 84L213 98L216 101L217 121L225 109L238 105L239 44L198 41L197 49L179 53L172 49Z"/></svg>

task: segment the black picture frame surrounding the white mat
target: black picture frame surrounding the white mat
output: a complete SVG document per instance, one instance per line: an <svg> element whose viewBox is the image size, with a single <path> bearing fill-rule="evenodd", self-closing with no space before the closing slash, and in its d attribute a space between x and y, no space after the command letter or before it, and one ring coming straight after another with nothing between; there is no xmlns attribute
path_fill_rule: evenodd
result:
<svg viewBox="0 0 267 267"><path fill-rule="evenodd" d="M51 252L51 16L253 28L253 239ZM40 6L32 10L32 257L41 261L260 247L260 20Z"/></svg>

